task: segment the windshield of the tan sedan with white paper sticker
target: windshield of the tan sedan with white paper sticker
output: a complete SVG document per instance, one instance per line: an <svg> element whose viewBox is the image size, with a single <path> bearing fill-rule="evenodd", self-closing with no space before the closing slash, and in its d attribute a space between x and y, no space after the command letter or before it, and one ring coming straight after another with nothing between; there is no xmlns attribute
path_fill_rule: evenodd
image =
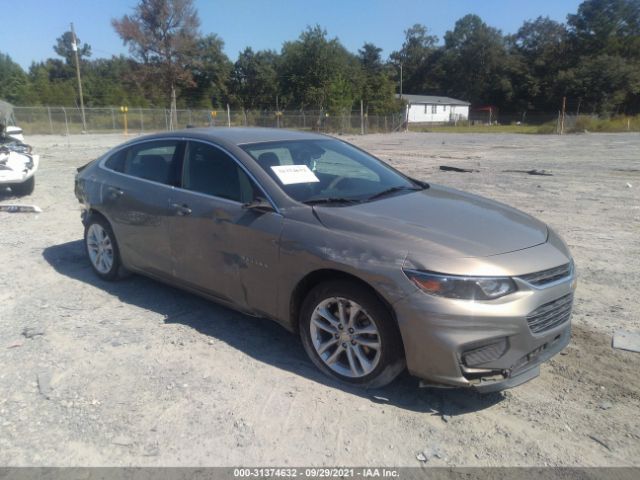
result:
<svg viewBox="0 0 640 480"><path fill-rule="evenodd" d="M350 205L419 190L371 155L331 139L254 143L242 147L291 198Z"/></svg>

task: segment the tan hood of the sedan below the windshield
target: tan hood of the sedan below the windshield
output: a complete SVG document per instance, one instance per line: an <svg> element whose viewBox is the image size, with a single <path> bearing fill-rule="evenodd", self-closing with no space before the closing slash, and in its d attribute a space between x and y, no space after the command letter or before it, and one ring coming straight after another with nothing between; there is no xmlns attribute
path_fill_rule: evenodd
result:
<svg viewBox="0 0 640 480"><path fill-rule="evenodd" d="M408 252L439 257L488 257L544 243L544 223L507 205L431 185L412 193L348 207L316 206L330 229L364 241L398 242ZM367 240L367 237L370 240Z"/></svg>

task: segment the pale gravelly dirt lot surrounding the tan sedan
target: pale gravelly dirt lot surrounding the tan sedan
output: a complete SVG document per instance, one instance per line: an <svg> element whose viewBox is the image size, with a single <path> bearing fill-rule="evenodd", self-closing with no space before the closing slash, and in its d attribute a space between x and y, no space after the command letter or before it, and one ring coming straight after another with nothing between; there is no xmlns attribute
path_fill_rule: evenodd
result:
<svg viewBox="0 0 640 480"><path fill-rule="evenodd" d="M640 330L638 134L350 138L570 245L571 345L538 379L485 397L406 375L348 390L275 324L141 277L99 281L73 175L122 140L29 138L42 162L22 201L43 212L0 212L0 465L418 466L423 451L427 465L640 465L640 354L611 348L615 330ZM531 168L553 176L504 172Z"/></svg>

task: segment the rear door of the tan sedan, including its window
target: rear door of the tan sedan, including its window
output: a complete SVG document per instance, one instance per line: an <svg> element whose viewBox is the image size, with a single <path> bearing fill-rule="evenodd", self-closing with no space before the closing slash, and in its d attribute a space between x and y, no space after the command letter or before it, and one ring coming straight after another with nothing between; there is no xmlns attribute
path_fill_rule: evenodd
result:
<svg viewBox="0 0 640 480"><path fill-rule="evenodd" d="M113 173L103 185L103 210L126 265L170 278L168 218L179 184L184 142L152 140L116 152L105 162Z"/></svg>

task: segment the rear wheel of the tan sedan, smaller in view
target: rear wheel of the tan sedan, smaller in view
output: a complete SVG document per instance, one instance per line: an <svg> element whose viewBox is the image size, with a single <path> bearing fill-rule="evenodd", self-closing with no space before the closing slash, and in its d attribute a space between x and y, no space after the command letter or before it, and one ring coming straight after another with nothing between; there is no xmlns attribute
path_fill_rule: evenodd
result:
<svg viewBox="0 0 640 480"><path fill-rule="evenodd" d="M108 281L120 278L120 250L111 225L104 217L89 217L84 227L84 247L91 268L98 277Z"/></svg>

